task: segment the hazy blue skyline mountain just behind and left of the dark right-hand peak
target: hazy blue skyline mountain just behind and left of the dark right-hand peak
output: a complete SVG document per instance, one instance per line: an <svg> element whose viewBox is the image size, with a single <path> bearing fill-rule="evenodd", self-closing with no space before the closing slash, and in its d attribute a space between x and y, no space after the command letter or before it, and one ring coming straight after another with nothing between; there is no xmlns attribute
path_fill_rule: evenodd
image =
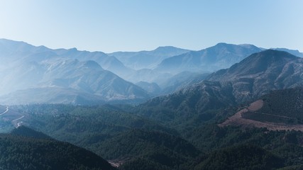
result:
<svg viewBox="0 0 303 170"><path fill-rule="evenodd" d="M219 43L199 51L190 51L182 55L163 60L155 70L176 74L179 72L214 72L231 67L248 55L260 52L254 45L231 45Z"/></svg>

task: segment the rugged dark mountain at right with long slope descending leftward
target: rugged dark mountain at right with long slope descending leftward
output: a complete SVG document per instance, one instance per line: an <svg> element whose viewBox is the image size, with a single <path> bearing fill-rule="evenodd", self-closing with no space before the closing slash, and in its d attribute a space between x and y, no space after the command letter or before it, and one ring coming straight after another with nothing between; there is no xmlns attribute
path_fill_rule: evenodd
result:
<svg viewBox="0 0 303 170"><path fill-rule="evenodd" d="M176 127L194 127L221 109L253 101L275 89L302 86L302 58L277 50L258 52L167 96L138 106L137 114Z"/></svg>

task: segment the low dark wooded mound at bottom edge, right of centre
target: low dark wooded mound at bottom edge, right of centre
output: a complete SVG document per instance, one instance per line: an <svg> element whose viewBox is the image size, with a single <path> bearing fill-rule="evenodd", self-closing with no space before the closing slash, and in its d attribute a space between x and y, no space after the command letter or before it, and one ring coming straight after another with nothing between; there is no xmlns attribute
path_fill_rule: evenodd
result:
<svg viewBox="0 0 303 170"><path fill-rule="evenodd" d="M195 169L204 170L263 170L283 166L282 159L253 145L220 149L209 154Z"/></svg>

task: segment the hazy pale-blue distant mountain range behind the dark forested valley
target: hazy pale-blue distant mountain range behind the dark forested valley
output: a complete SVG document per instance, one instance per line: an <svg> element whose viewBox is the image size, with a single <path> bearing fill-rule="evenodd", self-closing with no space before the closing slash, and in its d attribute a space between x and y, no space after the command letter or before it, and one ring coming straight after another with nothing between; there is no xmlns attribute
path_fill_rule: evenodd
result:
<svg viewBox="0 0 303 170"><path fill-rule="evenodd" d="M105 54L76 48L52 50L1 39L0 102L138 103L199 83L206 74L262 50L254 45L219 43L200 51L158 47L152 51ZM295 62L285 69L291 72L292 67L296 67ZM212 77L208 80L213 81L216 76Z"/></svg>

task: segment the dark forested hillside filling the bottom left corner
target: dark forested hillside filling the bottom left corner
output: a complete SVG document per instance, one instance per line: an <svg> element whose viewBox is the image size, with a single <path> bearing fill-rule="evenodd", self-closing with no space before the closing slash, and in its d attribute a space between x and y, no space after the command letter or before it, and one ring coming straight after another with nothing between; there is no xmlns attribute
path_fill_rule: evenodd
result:
<svg viewBox="0 0 303 170"><path fill-rule="evenodd" d="M31 135L28 132L31 131ZM113 169L106 160L86 149L44 137L20 127L0 134L1 169ZM16 155L18 157L16 157Z"/></svg>

